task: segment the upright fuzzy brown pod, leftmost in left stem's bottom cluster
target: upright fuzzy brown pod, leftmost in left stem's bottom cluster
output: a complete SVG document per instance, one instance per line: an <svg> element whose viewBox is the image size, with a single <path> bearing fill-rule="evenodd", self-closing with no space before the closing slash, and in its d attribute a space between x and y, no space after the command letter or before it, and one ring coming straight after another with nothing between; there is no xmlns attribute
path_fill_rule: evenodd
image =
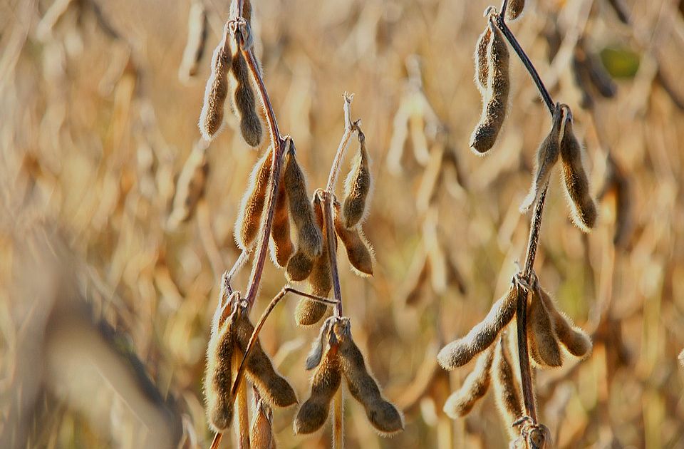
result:
<svg viewBox="0 0 684 449"><path fill-rule="evenodd" d="M219 323L222 309L217 308L214 324ZM223 432L230 427L233 418L233 403L230 397L232 387L232 359L235 341L234 314L222 322L217 329L212 329L212 336L207 346L207 370L204 374L204 396L206 400L207 418L216 432Z"/></svg>

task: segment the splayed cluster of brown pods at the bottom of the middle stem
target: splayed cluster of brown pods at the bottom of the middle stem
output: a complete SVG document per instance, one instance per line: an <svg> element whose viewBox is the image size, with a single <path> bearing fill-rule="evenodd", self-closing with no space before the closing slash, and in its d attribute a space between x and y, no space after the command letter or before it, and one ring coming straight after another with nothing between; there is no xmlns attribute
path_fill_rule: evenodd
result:
<svg viewBox="0 0 684 449"><path fill-rule="evenodd" d="M378 433L391 435L403 430L403 416L383 397L378 382L368 372L363 353L353 341L348 318L326 320L321 336L314 341L307 368L316 371L311 378L311 394L294 420L295 433L312 433L326 423L342 379L351 396L366 409L368 421Z"/></svg>

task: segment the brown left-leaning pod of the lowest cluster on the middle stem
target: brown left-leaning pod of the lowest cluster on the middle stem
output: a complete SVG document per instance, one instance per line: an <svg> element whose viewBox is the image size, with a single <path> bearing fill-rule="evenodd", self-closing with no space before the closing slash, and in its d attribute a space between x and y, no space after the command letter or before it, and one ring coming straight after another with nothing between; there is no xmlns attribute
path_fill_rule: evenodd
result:
<svg viewBox="0 0 684 449"><path fill-rule="evenodd" d="M338 344L331 343L326 356L311 379L311 395L294 418L294 433L313 433L326 423L333 396L340 388L342 373L338 360Z"/></svg>

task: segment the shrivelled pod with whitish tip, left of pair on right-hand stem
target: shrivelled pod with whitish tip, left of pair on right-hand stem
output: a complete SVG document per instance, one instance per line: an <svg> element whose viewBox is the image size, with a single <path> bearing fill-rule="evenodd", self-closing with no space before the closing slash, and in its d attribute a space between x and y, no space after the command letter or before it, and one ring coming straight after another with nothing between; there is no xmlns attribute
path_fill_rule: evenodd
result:
<svg viewBox="0 0 684 449"><path fill-rule="evenodd" d="M541 190L544 189L546 182L549 182L551 177L551 169L558 162L558 157L561 153L561 124L563 123L563 113L559 103L556 103L556 110L554 112L553 125L549 135L537 148L537 160L534 162L534 175L532 176L532 187L529 189L529 194L520 205L520 212L524 213L529 210L541 195Z"/></svg>

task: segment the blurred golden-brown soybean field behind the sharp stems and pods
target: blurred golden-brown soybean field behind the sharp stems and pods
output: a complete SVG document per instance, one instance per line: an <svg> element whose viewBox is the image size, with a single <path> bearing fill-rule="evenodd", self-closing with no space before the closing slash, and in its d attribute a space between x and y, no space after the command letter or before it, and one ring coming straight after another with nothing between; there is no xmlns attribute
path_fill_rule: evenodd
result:
<svg viewBox="0 0 684 449"><path fill-rule="evenodd" d="M537 373L542 420L559 448L684 448L684 2L625 0L628 24L608 1L527 3L511 28L554 99L574 111L592 192L602 190L608 153L627 186L620 195L608 190L598 226L584 235L569 220L558 173L551 178L535 267L561 309L594 336L594 353ZM175 179L199 139L209 59L229 9L228 1L204 5L207 48L186 78L179 67L189 1L74 0L52 24L53 0L0 0L2 447L162 447L159 438L179 435L184 447L209 445L204 351L220 276L239 255L239 200L264 149L247 148L227 114L207 150L203 202L170 226ZM344 91L355 94L352 114L373 157L364 230L375 274L356 277L341 255L341 281L358 344L406 424L380 438L349 400L350 448L507 445L491 397L465 419L442 413L468 369L446 373L435 362L443 344L487 313L524 257L529 220L518 205L550 126L512 58L499 142L485 158L468 148L480 117L472 53L487 5L254 1L266 86L310 189L327 179ZM581 54L612 74L611 98L578 86ZM430 143L430 120L415 109L395 157L407 126L395 115L413 104L419 79L457 167L442 173L429 201L421 143ZM616 214L618 204L628 205L626 215ZM440 283L430 273L413 288L435 242L452 275ZM253 317L285 282L272 264L264 276ZM261 341L304 398L304 360L318 329L295 325L295 305L276 309ZM328 447L329 425L293 435L295 411L274 411L279 446Z"/></svg>

